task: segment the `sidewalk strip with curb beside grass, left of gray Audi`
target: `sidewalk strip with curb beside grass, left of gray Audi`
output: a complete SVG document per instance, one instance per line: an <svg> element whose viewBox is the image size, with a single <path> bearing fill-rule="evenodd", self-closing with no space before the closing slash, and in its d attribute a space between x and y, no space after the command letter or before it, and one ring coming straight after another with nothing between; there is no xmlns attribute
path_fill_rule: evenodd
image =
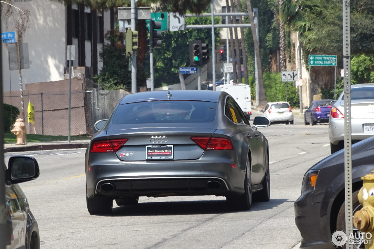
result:
<svg viewBox="0 0 374 249"><path fill-rule="evenodd" d="M28 142L25 145L4 144L4 153L35 151L35 150L63 150L87 148L90 140L56 141L56 142Z"/></svg>

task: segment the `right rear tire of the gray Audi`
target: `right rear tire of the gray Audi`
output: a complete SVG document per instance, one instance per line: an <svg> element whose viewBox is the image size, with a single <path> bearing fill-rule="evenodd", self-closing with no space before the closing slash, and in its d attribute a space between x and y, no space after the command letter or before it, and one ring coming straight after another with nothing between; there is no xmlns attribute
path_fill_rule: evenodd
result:
<svg viewBox="0 0 374 249"><path fill-rule="evenodd" d="M245 211L251 209L252 206L252 178L251 165L249 158L247 159L247 169L244 178L244 194L240 196L227 196L227 205L230 210Z"/></svg>

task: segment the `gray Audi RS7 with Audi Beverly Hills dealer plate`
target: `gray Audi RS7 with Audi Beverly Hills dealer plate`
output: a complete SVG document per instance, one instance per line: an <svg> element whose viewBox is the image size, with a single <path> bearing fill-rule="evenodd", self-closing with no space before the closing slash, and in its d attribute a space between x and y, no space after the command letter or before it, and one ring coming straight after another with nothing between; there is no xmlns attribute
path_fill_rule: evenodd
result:
<svg viewBox="0 0 374 249"><path fill-rule="evenodd" d="M252 197L270 199L269 145L226 92L152 91L128 94L86 151L86 200L91 214L135 205L139 196L225 196L232 210Z"/></svg>

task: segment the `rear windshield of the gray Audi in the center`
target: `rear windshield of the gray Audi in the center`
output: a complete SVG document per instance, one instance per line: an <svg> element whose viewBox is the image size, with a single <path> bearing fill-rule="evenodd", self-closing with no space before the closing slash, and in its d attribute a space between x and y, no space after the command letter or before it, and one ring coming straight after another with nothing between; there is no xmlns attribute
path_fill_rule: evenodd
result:
<svg viewBox="0 0 374 249"><path fill-rule="evenodd" d="M217 103L206 101L150 101L120 105L113 124L213 122Z"/></svg>

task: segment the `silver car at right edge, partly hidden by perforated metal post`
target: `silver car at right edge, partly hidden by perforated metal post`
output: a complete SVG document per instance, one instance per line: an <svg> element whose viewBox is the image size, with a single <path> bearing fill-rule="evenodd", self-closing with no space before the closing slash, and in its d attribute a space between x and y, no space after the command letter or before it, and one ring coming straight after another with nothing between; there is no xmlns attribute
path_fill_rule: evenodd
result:
<svg viewBox="0 0 374 249"><path fill-rule="evenodd" d="M344 92L332 102L328 125L331 154L344 148ZM351 86L352 143L374 135L374 83Z"/></svg>

